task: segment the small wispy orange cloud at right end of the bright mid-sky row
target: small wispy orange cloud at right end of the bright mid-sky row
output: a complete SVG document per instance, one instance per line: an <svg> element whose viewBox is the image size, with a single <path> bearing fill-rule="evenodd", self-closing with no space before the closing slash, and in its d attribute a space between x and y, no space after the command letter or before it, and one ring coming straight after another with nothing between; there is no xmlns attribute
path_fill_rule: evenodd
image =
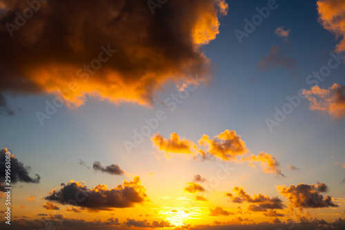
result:
<svg viewBox="0 0 345 230"><path fill-rule="evenodd" d="M249 161L251 163L255 161L259 162L265 174L277 174L278 176L285 177L280 168L280 163L277 161L275 156L266 154L264 151L260 152L257 156L250 154L250 156L242 158L242 161ZM251 165L254 166L253 164Z"/></svg>

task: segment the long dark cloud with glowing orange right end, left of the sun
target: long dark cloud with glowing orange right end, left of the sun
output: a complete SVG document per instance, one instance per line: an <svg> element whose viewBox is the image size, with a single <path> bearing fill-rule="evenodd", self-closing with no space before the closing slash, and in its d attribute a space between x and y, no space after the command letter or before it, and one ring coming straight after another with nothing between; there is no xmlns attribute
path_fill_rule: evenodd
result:
<svg viewBox="0 0 345 230"><path fill-rule="evenodd" d="M70 203L70 200L75 200L75 196L79 196L79 200L82 201ZM71 181L61 184L60 189L53 189L45 199L92 210L133 207L149 200L139 176L135 176L130 182L124 180L123 185L117 185L112 189L108 189L107 185L97 185L88 189L83 182Z"/></svg>

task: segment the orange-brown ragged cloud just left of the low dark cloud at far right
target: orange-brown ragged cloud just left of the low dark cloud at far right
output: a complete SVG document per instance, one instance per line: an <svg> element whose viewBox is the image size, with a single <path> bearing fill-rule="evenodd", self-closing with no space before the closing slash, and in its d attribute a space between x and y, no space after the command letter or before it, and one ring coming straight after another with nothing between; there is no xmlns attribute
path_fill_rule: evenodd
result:
<svg viewBox="0 0 345 230"><path fill-rule="evenodd" d="M277 197L270 198L262 194L254 195L253 198L244 191L243 188L234 187L233 193L227 193L226 196L232 199L235 203L254 203L255 205L249 205L250 211L267 211L268 209L284 209L285 205L283 200Z"/></svg>

